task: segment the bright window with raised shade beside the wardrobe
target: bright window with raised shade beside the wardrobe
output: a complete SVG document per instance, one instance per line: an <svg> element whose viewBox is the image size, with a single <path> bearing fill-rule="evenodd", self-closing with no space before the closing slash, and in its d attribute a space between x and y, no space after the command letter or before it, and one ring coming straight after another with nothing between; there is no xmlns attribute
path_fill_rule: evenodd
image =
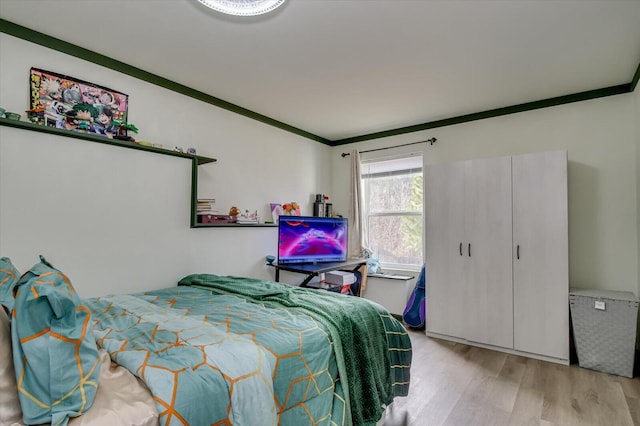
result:
<svg viewBox="0 0 640 426"><path fill-rule="evenodd" d="M385 268L422 266L422 155L364 161L364 245Z"/></svg>

